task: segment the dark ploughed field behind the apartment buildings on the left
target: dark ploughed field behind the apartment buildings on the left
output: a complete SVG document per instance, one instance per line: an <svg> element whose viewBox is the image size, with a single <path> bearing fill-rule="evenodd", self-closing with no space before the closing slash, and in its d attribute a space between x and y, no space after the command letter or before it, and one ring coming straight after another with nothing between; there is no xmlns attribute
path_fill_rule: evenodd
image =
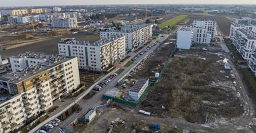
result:
<svg viewBox="0 0 256 133"><path fill-rule="evenodd" d="M58 42L61 38L75 38L76 40L90 40L91 42L98 40L99 38L96 36L92 36L92 38L87 38L86 36L90 36L91 34L87 33L77 33L77 34L68 34L65 36L58 36L54 38L49 38L48 40L44 40L41 42L35 42L32 44L28 44L26 46L22 46L19 48L11 48L9 50L2 50L1 56L11 56L15 54L20 54L28 51L35 52L45 52L47 54L59 54L58 51Z"/></svg>

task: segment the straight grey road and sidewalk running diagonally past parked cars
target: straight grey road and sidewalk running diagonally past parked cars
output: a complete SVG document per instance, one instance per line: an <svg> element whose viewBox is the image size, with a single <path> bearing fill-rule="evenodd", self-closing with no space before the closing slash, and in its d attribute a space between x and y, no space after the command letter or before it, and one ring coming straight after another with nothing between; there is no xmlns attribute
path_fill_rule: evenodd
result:
<svg viewBox="0 0 256 133"><path fill-rule="evenodd" d="M164 40L166 40L168 38L168 35L164 36L163 38L160 38L160 42L164 42ZM154 42L154 41L153 41ZM153 43L152 42L152 43ZM152 44L150 43L150 44ZM108 89L112 89L113 87L115 87L115 85L117 84L117 81L119 81L119 79L121 79L121 77L123 77L126 73L128 73L133 67L135 67L135 65L137 65L138 62L140 62L144 57L148 56L151 52L153 52L153 50L155 50L156 48L158 48L159 44L157 44L156 46L150 48L150 50L148 50L146 53L144 53L142 56L140 56L137 60L135 60L135 62L133 62L133 64L131 64L131 66L125 68L125 71L123 71L123 73L121 73L121 75L119 75L118 77L116 77L113 81L111 81L106 87L104 87L104 89L102 89L101 91L99 91L98 93L96 93L96 95L94 95L94 97L92 97L91 99L89 99L87 102L84 102L84 100L81 100L85 95L87 95L92 88L94 87L94 85L98 84L95 83L94 85L92 85L92 87L90 87L85 93L84 95L82 95L81 97L79 97L77 100L75 100L73 103L71 103L71 105L69 105L68 107L66 107L65 109L63 109L62 112L65 112L65 110L67 110L69 107L71 107L72 105L74 105L75 103L78 103L81 107L83 107L82 111L79 113L73 113L71 114L71 116L69 116L69 118L67 118L66 120L64 120L63 122L61 122L59 124L59 126L67 126L69 124L71 124L71 122L73 122L77 117L80 116L84 116L84 114L86 114L86 112L88 111L88 109L95 107L97 105L97 103L102 99L102 95L108 91ZM139 50L139 52L141 52L142 50L146 49L146 47L142 48L141 50ZM137 52L137 53L139 53ZM131 58L133 58L133 56L131 56L128 60L131 60ZM122 64L125 64L126 62L123 62ZM117 71L119 68L116 68L114 71ZM105 77L103 77L102 79L105 79L106 77L108 77L111 73L109 73L108 75L106 75ZM35 128L33 128L30 132L36 132L36 130L38 130L40 127L42 127L43 125L45 125L46 123L50 122L51 120L53 120L54 118L57 118L58 116L60 116L60 114L62 114L62 112L59 112L59 114L56 114L55 116L48 118L47 120L45 120L44 122L42 122L41 124L39 124L38 126L36 126ZM51 132L59 132L59 126L53 128L53 130Z"/></svg>

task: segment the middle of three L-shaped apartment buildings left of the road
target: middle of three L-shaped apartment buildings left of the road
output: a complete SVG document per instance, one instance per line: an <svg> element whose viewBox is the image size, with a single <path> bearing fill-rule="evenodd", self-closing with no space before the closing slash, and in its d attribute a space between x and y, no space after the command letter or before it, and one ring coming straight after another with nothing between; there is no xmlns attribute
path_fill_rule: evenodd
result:
<svg viewBox="0 0 256 133"><path fill-rule="evenodd" d="M63 38L58 47L60 55L77 56L79 69L104 71L125 56L125 36L111 36L93 43Z"/></svg>

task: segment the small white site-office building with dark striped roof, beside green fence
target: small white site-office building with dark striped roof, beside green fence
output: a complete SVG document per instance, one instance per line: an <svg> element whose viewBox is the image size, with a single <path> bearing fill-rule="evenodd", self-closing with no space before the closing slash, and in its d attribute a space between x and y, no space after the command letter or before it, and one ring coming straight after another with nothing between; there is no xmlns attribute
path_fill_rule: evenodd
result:
<svg viewBox="0 0 256 133"><path fill-rule="evenodd" d="M148 87L148 84L148 79L139 79L129 90L129 98L133 101L138 101L143 92Z"/></svg>

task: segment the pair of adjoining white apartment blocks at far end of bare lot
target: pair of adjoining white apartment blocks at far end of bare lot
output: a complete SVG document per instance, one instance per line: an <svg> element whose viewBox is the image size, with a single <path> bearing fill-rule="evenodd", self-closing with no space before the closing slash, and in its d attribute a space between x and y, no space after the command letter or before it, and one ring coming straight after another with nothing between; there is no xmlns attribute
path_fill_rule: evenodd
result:
<svg viewBox="0 0 256 133"><path fill-rule="evenodd" d="M215 34L216 21L194 20L192 26L183 26L178 30L177 47L189 49L191 44L210 44Z"/></svg>

